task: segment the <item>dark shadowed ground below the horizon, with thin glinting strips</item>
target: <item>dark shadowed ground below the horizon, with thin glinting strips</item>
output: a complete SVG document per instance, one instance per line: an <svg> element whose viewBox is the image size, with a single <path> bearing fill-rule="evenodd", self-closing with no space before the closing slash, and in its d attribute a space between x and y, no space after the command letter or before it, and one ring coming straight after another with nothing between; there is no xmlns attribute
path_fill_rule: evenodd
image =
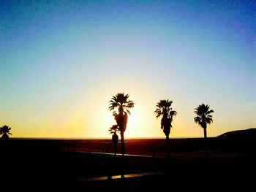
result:
<svg viewBox="0 0 256 192"><path fill-rule="evenodd" d="M209 138L208 156L203 143L171 139L166 158L165 139L127 139L127 153L138 156L122 158L108 154L108 139L9 139L0 142L0 185L29 191L255 188L255 139Z"/></svg>

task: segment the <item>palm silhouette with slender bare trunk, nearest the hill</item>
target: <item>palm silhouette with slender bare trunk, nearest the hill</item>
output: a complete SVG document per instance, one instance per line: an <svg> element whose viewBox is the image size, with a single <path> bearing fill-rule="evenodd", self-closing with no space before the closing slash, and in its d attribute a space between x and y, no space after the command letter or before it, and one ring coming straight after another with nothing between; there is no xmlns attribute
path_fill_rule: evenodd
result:
<svg viewBox="0 0 256 192"><path fill-rule="evenodd" d="M207 139L207 124L211 124L213 122L211 115L212 112L214 112L214 110L210 110L210 106L208 106L208 104L200 104L197 108L195 108L195 114L197 116L194 118L194 120L195 123L198 123L203 128L205 140Z"/></svg>

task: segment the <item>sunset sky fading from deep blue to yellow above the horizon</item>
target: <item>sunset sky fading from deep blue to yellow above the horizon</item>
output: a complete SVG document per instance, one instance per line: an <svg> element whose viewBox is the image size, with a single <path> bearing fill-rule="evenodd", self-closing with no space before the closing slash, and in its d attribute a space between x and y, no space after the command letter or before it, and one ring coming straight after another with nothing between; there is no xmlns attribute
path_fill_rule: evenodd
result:
<svg viewBox="0 0 256 192"><path fill-rule="evenodd" d="M154 110L173 101L170 138L256 127L255 1L0 1L0 126L11 137L110 137L129 93L125 137L165 138Z"/></svg>

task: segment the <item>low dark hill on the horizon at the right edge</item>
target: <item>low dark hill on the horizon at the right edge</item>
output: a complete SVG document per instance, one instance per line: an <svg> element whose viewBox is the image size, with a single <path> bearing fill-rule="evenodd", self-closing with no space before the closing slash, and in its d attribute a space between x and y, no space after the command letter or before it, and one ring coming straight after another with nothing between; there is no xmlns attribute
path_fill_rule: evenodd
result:
<svg viewBox="0 0 256 192"><path fill-rule="evenodd" d="M256 128L247 128L244 130L229 131L217 136L227 139L256 139Z"/></svg>

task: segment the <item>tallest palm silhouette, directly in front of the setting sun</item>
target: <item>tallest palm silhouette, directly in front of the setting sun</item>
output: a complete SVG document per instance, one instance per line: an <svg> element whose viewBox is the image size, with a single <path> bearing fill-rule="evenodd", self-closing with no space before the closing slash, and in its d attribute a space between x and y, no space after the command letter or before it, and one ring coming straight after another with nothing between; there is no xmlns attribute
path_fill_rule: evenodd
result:
<svg viewBox="0 0 256 192"><path fill-rule="evenodd" d="M113 116L115 117L118 130L121 134L121 153L124 157L124 131L127 128L129 108L134 107L135 103L129 99L129 94L117 93L116 96L113 96L110 100L110 106L108 109L113 111Z"/></svg>

